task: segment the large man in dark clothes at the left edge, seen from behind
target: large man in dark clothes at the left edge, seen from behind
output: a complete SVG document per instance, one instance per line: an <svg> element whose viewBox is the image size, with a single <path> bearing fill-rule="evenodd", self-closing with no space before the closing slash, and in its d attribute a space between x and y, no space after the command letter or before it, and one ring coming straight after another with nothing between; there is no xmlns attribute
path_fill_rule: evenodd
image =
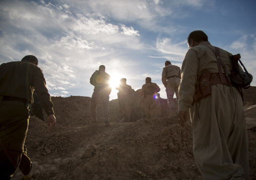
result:
<svg viewBox="0 0 256 180"><path fill-rule="evenodd" d="M29 108L34 89L48 115L50 129L56 119L52 102L42 70L37 67L35 56L25 56L20 62L0 65L0 176L10 179L19 167L24 178L30 178L37 162L31 162L24 145L28 123Z"/></svg>

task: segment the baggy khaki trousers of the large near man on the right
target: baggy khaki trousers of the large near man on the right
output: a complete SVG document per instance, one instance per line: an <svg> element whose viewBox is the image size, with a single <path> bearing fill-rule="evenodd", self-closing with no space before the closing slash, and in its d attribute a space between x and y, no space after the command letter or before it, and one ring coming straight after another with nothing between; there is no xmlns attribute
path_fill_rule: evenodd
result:
<svg viewBox="0 0 256 180"><path fill-rule="evenodd" d="M211 96L194 104L193 151L205 179L240 180L247 175L247 145L246 141L242 143L245 130L242 101L240 99L240 106L235 103L232 88L235 90L223 85L212 86Z"/></svg>

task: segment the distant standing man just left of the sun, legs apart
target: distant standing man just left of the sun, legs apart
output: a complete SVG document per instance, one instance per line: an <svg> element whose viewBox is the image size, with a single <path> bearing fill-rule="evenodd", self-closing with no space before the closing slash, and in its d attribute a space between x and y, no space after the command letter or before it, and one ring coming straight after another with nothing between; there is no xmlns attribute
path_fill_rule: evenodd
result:
<svg viewBox="0 0 256 180"><path fill-rule="evenodd" d="M99 70L96 70L91 78L90 83L94 86L94 91L91 99L91 114L92 122L98 123L97 121L97 104L101 100L104 113L105 125L109 125L109 94L111 87L109 86L110 76L105 72L105 66L101 65Z"/></svg>

